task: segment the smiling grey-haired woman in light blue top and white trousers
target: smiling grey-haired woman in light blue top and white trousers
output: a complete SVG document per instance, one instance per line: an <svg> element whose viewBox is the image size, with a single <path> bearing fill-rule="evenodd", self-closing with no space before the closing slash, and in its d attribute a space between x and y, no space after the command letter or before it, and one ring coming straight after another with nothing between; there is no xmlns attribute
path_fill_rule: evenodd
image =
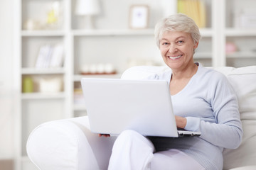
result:
<svg viewBox="0 0 256 170"><path fill-rule="evenodd" d="M132 130L114 142L109 169L223 169L223 148L237 148L242 125L235 93L223 74L193 62L201 35L181 13L156 24L156 44L171 71L149 79L169 82L176 124L200 137L144 137Z"/></svg>

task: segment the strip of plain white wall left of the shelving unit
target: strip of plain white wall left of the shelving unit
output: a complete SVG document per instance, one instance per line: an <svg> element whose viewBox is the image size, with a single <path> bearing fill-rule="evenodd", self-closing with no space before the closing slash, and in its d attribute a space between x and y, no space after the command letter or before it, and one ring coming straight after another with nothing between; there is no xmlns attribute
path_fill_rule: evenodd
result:
<svg viewBox="0 0 256 170"><path fill-rule="evenodd" d="M14 113L12 108L12 1L0 1L0 159L14 157Z"/></svg>

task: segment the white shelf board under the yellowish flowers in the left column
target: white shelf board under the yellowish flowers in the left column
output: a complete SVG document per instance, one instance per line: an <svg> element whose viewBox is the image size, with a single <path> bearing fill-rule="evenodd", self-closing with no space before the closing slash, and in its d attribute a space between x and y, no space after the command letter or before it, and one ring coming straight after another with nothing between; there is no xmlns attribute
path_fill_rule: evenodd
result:
<svg viewBox="0 0 256 170"><path fill-rule="evenodd" d="M22 30L21 36L23 37L59 37L64 36L63 30Z"/></svg>

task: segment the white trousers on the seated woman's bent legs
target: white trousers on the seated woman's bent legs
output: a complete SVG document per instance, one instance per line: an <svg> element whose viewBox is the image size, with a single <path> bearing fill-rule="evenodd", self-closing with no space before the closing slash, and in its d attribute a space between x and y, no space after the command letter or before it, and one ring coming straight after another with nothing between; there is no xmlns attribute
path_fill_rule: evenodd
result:
<svg viewBox="0 0 256 170"><path fill-rule="evenodd" d="M109 170L205 170L187 154L177 150L155 152L154 145L143 135L125 130L114 142Z"/></svg>

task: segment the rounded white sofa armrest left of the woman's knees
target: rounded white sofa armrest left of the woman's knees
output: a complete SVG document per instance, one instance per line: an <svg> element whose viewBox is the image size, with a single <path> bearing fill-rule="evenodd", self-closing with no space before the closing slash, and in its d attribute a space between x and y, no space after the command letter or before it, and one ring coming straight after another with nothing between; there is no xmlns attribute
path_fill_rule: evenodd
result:
<svg viewBox="0 0 256 170"><path fill-rule="evenodd" d="M38 169L107 169L115 137L90 132L87 116L39 125L28 137L27 153Z"/></svg>

